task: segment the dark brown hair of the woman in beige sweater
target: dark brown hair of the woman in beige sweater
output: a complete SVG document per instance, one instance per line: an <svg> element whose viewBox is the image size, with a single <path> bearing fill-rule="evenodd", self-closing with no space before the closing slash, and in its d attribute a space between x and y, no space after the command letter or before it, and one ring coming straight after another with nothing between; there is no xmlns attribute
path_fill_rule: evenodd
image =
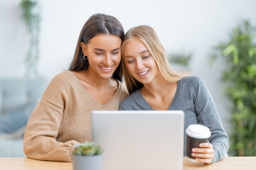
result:
<svg viewBox="0 0 256 170"><path fill-rule="evenodd" d="M124 40L124 28L122 28L121 23L114 18L114 16L108 16L102 13L96 13L92 15L82 27L80 32L77 46L75 47L75 56L73 62L70 64L70 71L82 71L88 68L88 60L83 60L82 48L80 42L85 45L90 39L94 38L97 34L107 34L107 35L117 35L122 41ZM122 64L118 65L117 69L114 71L112 78L122 79Z"/></svg>

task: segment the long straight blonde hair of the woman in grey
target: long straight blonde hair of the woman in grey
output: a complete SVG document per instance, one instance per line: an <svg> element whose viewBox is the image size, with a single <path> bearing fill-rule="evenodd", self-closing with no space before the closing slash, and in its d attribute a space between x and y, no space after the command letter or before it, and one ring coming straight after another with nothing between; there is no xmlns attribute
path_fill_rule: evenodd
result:
<svg viewBox="0 0 256 170"><path fill-rule="evenodd" d="M121 47L122 69L129 94L132 94L132 92L143 87L143 84L134 79L134 77L132 77L132 75L128 72L127 66L124 62L124 45L130 40L133 40L134 38L138 38L139 40L142 40L142 42L144 42L144 45L146 45L147 49L151 53L151 56L156 61L156 65L166 81L176 82L184 77L184 75L178 74L174 72L173 69L171 69L166 57L164 47L161 45L161 42L156 35L154 29L150 26L137 26L130 29L124 35L124 41Z"/></svg>

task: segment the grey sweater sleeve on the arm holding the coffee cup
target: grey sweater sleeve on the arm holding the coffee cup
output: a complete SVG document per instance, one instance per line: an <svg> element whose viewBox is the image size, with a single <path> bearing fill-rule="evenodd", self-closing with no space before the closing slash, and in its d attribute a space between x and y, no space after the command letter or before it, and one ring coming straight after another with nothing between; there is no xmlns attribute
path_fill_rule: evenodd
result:
<svg viewBox="0 0 256 170"><path fill-rule="evenodd" d="M206 125L211 132L209 142L213 145L214 156L213 162L218 162L223 159L228 153L230 146L228 135L223 129L218 112L213 103L213 98L210 95L206 85L201 79L198 81L196 89L195 110L198 115L198 120L202 125Z"/></svg>

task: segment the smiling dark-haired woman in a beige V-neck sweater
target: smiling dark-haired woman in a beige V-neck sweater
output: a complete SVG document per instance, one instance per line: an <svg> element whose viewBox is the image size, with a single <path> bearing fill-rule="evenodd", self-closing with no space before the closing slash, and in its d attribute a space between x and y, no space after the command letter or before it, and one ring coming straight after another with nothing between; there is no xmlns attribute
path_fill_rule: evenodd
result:
<svg viewBox="0 0 256 170"><path fill-rule="evenodd" d="M23 141L27 157L71 162L73 146L91 140L91 111L117 110L128 96L121 83L123 38L117 18L97 13L88 19L70 69L50 81L31 113Z"/></svg>

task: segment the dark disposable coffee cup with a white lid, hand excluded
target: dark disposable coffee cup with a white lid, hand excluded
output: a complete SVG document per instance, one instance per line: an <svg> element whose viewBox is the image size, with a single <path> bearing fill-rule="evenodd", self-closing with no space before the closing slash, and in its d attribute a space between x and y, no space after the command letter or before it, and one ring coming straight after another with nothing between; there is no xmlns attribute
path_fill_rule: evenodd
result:
<svg viewBox="0 0 256 170"><path fill-rule="evenodd" d="M196 161L196 157L192 157L192 149L199 147L199 144L208 142L210 130L204 125L189 125L186 128L186 156L191 162Z"/></svg>

